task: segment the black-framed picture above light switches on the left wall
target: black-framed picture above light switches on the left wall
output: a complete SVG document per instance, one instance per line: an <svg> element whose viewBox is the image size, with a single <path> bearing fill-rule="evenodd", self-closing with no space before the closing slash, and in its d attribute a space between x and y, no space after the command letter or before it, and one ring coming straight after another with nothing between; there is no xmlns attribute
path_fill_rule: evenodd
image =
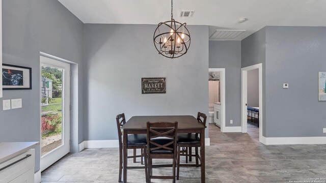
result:
<svg viewBox="0 0 326 183"><path fill-rule="evenodd" d="M32 89L32 68L2 65L3 89Z"/></svg>

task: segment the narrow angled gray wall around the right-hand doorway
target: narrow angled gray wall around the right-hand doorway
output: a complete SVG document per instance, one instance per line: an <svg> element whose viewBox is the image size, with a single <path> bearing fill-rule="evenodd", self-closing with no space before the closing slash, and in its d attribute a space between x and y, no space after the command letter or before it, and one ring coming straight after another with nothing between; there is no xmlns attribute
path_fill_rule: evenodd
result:
<svg viewBox="0 0 326 183"><path fill-rule="evenodd" d="M266 137L266 116L269 111L266 111L266 31L265 27L250 35L241 41L241 68L262 63L262 102L263 116L262 124L263 136ZM275 115L275 114L274 114Z"/></svg>

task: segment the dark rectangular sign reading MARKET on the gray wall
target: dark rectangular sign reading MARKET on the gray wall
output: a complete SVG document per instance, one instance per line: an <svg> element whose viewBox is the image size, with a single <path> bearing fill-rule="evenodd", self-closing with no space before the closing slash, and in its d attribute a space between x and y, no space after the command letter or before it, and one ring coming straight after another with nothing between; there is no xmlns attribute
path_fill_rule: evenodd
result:
<svg viewBox="0 0 326 183"><path fill-rule="evenodd" d="M142 94L165 94L165 78L142 78Z"/></svg>

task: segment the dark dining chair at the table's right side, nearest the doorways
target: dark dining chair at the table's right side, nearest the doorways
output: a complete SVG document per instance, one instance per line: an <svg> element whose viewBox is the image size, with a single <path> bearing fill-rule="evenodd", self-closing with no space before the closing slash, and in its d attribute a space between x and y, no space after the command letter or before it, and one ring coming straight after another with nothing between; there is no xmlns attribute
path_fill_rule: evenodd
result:
<svg viewBox="0 0 326 183"><path fill-rule="evenodd" d="M202 123L206 127L206 114L198 112L197 113L197 120L199 123ZM198 136L198 133L196 134L178 134L177 138L177 144L178 144L178 165L177 165L177 180L179 180L179 170L180 170L180 156L186 157L186 163L187 163L187 157L189 157L189 161L191 161L192 157L196 157L196 164L182 164L183 167L199 167L198 161L201 161L201 156L199 156L198 148L201 146L200 144L200 138ZM192 147L195 147L195 155L192 154ZM183 150L181 150L181 148Z"/></svg>

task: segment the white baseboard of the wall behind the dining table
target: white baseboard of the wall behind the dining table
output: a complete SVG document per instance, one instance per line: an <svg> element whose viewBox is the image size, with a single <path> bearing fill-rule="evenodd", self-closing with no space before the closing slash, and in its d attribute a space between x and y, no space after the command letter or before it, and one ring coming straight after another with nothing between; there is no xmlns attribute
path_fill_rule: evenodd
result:
<svg viewBox="0 0 326 183"><path fill-rule="evenodd" d="M205 138L205 146L210 145L210 139ZM85 140L79 144L79 152L84 148L117 148L119 140Z"/></svg>

